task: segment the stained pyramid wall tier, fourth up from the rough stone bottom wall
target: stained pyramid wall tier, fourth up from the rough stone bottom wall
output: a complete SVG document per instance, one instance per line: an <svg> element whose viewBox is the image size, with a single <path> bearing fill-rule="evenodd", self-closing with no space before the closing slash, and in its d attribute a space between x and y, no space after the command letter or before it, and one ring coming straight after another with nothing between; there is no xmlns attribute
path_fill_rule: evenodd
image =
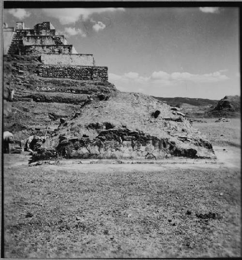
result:
<svg viewBox="0 0 242 260"><path fill-rule="evenodd" d="M63 35L59 35L57 37L53 37L51 35L28 35L23 37L24 45L54 45L57 44L58 41L61 41L62 44L67 44L67 41Z"/></svg>

